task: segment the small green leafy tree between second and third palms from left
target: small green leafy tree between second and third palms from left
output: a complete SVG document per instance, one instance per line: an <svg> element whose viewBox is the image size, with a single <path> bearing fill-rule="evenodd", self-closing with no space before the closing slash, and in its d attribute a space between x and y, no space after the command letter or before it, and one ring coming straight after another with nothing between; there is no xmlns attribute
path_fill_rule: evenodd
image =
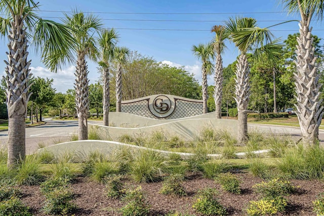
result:
<svg viewBox="0 0 324 216"><path fill-rule="evenodd" d="M103 90L99 83L89 85L89 102L90 109L96 109L97 118L99 118L99 112L102 110L102 98Z"/></svg>

